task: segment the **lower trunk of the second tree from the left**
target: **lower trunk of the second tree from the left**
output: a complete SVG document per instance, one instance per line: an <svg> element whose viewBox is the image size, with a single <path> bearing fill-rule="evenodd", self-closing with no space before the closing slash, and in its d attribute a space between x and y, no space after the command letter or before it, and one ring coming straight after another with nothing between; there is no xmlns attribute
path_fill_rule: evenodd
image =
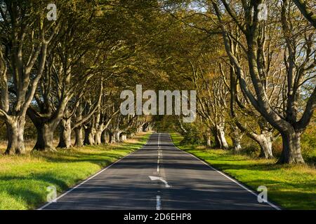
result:
<svg viewBox="0 0 316 224"><path fill-rule="evenodd" d="M37 125L37 143L33 151L55 151L53 146L55 125L41 123Z"/></svg>

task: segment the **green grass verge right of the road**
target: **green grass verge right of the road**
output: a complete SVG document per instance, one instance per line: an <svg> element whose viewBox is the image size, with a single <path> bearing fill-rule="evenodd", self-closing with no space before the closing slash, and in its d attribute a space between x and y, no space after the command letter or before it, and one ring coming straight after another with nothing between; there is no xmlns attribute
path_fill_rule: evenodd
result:
<svg viewBox="0 0 316 224"><path fill-rule="evenodd" d="M268 188L268 200L284 209L316 209L316 170L308 165L275 165L276 160L260 160L230 151L182 146L180 134L171 134L178 148L208 162L249 188Z"/></svg>

